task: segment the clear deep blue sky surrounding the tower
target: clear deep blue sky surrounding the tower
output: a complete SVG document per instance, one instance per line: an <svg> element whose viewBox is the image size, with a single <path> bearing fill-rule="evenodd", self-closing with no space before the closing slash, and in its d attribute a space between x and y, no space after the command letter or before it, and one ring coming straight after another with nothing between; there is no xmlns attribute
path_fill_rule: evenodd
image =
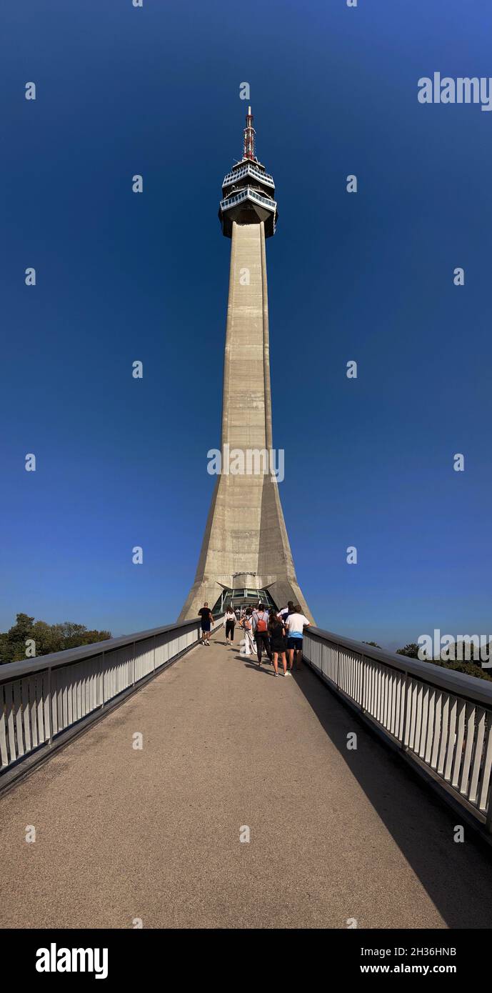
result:
<svg viewBox="0 0 492 993"><path fill-rule="evenodd" d="M117 635L183 605L246 80L280 212L274 444L316 622L387 646L492 632L492 113L417 99L433 71L491 74L490 0L16 0L1 20L0 630L24 611Z"/></svg>

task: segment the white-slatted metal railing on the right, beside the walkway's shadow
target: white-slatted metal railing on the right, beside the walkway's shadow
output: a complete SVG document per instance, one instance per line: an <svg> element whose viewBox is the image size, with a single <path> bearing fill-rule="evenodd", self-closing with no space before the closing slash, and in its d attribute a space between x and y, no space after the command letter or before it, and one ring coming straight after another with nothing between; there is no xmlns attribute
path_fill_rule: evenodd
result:
<svg viewBox="0 0 492 993"><path fill-rule="evenodd" d="M492 830L492 682L318 628L311 667L431 780Z"/></svg>

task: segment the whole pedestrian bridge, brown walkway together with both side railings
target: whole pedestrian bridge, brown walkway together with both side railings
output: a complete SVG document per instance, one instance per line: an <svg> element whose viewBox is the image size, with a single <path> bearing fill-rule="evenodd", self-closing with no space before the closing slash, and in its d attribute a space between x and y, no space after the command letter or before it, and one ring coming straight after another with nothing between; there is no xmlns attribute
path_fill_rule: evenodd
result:
<svg viewBox="0 0 492 993"><path fill-rule="evenodd" d="M492 926L491 683L197 638L0 667L2 927Z"/></svg>

